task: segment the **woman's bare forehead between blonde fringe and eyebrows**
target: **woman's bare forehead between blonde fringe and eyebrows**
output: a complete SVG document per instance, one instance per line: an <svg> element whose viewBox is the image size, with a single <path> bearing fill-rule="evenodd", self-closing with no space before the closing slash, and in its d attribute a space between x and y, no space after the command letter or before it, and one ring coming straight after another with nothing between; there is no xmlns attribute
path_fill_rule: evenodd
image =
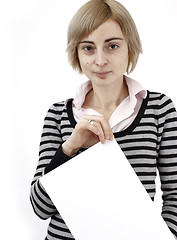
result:
<svg viewBox="0 0 177 240"><path fill-rule="evenodd" d="M120 25L114 20L107 20L102 23L96 30L82 40L96 41L98 39L106 40L109 38L124 39Z"/></svg>

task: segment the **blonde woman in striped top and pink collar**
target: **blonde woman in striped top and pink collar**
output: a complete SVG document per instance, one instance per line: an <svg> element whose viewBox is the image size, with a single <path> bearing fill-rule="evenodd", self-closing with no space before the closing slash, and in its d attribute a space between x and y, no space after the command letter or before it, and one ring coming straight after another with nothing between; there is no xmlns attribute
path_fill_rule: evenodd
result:
<svg viewBox="0 0 177 240"><path fill-rule="evenodd" d="M74 237L40 177L95 143L113 138L152 200L158 168L162 216L177 236L177 113L167 96L146 91L124 75L133 71L142 52L130 14L114 0L91 0L70 23L67 50L73 68L89 81L74 99L54 104L45 118L31 203L40 218L51 218L46 239Z"/></svg>

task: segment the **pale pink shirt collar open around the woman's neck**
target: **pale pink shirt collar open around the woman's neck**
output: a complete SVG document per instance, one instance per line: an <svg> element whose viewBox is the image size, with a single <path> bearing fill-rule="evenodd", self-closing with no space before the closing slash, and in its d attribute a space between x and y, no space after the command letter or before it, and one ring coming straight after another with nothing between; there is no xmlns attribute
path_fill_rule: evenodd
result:
<svg viewBox="0 0 177 240"><path fill-rule="evenodd" d="M120 132L126 129L135 119L140 110L141 103L147 96L147 91L137 81L124 76L129 96L126 97L112 113L109 124L113 132ZM92 89L91 81L83 83L76 91L73 100L73 114L76 122L79 122L85 115L102 116L93 109L83 108L85 96Z"/></svg>

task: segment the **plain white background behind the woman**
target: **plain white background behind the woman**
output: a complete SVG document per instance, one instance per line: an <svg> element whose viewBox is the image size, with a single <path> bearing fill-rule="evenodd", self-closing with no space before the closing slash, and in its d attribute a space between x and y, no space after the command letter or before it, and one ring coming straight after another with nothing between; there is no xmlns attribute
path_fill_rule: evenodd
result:
<svg viewBox="0 0 177 240"><path fill-rule="evenodd" d="M68 65L65 52L68 23L85 2L0 2L0 206L1 235L6 239L45 238L48 221L33 213L30 183L48 108L73 97L85 81ZM167 94L177 106L177 0L120 2L134 18L144 50L130 77Z"/></svg>

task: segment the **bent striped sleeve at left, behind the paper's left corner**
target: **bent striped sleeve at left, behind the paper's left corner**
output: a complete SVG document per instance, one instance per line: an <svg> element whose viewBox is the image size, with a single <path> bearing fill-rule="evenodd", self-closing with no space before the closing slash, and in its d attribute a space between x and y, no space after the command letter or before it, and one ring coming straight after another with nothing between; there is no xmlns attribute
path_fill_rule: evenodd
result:
<svg viewBox="0 0 177 240"><path fill-rule="evenodd" d="M40 177L69 159L61 149L60 115L60 104L54 104L47 112L40 142L39 162L31 184L30 200L34 212L42 219L55 215L57 209L40 183Z"/></svg>

